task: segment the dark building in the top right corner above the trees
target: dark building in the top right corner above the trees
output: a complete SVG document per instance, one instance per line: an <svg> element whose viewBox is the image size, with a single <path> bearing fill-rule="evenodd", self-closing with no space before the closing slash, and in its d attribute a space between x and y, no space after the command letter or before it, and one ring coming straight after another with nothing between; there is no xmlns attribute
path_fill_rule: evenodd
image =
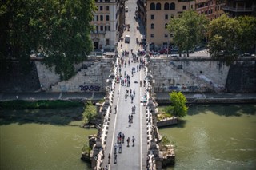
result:
<svg viewBox="0 0 256 170"><path fill-rule="evenodd" d="M239 17L241 15L256 16L255 0L226 0L226 6L222 10L230 17Z"/></svg>

